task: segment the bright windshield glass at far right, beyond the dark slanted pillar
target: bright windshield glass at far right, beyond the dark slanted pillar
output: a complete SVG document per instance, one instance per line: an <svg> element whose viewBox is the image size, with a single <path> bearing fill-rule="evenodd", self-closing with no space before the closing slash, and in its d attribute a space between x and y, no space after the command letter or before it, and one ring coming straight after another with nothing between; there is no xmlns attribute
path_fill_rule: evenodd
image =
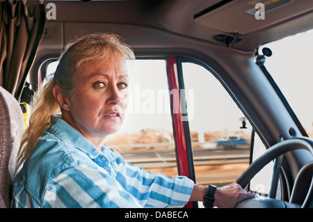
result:
<svg viewBox="0 0 313 222"><path fill-rule="evenodd" d="M313 30L264 45L273 52L265 66L313 138Z"/></svg>

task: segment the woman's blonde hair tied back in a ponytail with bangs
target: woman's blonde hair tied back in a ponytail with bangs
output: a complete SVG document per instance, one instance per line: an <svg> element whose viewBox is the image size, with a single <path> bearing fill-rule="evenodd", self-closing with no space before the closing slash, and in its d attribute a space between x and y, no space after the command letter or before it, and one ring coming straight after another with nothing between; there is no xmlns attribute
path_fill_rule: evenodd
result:
<svg viewBox="0 0 313 222"><path fill-rule="evenodd" d="M58 85L66 95L74 91L74 78L82 72L88 63L106 61L111 51L118 51L125 59L134 59L134 52L120 36L108 33L85 35L76 42L70 42L61 57L54 77L48 79L45 85L33 96L29 127L22 136L22 142L17 156L16 171L31 154L35 143L42 132L51 125L50 118L61 114L61 107L56 102L52 89Z"/></svg>

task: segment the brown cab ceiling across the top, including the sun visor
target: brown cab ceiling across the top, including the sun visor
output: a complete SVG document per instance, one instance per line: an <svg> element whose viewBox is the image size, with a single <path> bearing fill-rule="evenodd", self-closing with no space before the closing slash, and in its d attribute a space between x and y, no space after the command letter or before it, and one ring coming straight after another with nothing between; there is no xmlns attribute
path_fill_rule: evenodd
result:
<svg viewBox="0 0 313 222"><path fill-rule="evenodd" d="M87 0L84 0L87 1ZM313 29L312 0L106 0L45 1L56 4L56 20L131 24L223 45L216 35L236 36L242 51ZM263 3L264 17L255 6ZM140 36L141 33L138 33Z"/></svg>

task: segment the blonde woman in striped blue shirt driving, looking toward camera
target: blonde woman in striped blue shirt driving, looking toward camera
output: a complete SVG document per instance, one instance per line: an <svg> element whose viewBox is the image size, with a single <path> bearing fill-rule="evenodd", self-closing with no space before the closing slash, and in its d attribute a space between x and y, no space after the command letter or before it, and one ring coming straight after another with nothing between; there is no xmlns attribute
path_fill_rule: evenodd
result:
<svg viewBox="0 0 313 222"><path fill-rule="evenodd" d="M207 187L127 164L103 144L120 129L128 103L126 59L118 36L87 35L67 47L54 78L34 97L22 139L13 207L183 207ZM253 197L238 184L216 191L214 205Z"/></svg>

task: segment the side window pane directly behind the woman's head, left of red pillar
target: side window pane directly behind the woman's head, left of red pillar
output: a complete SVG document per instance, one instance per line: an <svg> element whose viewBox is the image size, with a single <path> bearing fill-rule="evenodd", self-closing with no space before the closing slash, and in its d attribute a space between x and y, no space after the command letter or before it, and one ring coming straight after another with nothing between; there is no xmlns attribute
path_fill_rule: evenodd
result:
<svg viewBox="0 0 313 222"><path fill-rule="evenodd" d="M58 62L47 66L53 74ZM129 107L121 129L104 143L145 170L177 175L165 60L128 62Z"/></svg>

